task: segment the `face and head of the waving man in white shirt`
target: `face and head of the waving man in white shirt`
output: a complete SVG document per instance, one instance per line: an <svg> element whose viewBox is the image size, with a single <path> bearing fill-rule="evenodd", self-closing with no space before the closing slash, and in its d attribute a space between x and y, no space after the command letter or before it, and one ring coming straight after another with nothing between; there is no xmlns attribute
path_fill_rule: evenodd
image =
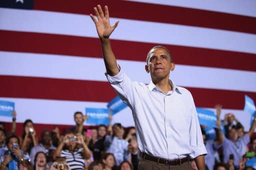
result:
<svg viewBox="0 0 256 170"><path fill-rule="evenodd" d="M154 48L151 50L145 70L150 73L153 80L169 77L169 72L173 69L174 63L170 61L170 56L164 48Z"/></svg>

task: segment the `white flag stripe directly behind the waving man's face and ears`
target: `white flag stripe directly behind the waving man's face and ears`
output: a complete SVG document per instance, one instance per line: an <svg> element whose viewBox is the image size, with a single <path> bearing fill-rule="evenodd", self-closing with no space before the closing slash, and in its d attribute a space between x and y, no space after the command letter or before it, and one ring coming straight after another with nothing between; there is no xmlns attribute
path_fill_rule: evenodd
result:
<svg viewBox="0 0 256 170"><path fill-rule="evenodd" d="M101 58L0 51L0 61L0 75L106 81ZM133 81L149 83L145 62L118 63ZM252 71L177 64L170 78L184 87L256 92L256 72Z"/></svg>

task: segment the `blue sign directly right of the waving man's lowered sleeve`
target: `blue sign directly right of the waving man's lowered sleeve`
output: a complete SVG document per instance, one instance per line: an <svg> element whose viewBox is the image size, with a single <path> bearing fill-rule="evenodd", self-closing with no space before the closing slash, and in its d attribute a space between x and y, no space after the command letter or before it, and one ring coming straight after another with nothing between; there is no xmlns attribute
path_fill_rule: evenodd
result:
<svg viewBox="0 0 256 170"><path fill-rule="evenodd" d="M206 127L214 127L217 120L214 112L202 108L196 108L197 117L200 125L205 125Z"/></svg>

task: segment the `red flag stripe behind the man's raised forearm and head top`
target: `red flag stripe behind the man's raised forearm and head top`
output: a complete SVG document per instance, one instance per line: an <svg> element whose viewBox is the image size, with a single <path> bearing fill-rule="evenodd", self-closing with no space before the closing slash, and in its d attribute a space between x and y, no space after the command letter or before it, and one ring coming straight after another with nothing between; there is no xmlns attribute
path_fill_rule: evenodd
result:
<svg viewBox="0 0 256 170"><path fill-rule="evenodd" d="M4 30L0 30L0 37L2 51L100 58L102 56L97 38ZM123 40L111 40L111 43L117 59L134 61L145 61L148 50L155 45ZM256 54L162 45L170 49L176 64L256 71Z"/></svg>

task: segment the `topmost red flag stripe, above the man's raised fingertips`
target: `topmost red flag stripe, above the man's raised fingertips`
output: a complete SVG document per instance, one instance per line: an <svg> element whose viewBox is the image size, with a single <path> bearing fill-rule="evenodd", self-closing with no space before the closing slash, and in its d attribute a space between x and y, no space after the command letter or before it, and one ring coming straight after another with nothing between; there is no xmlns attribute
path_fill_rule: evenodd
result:
<svg viewBox="0 0 256 170"><path fill-rule="evenodd" d="M34 0L34 9L89 14L97 4L108 5L111 17L256 33L255 17L125 0Z"/></svg>

